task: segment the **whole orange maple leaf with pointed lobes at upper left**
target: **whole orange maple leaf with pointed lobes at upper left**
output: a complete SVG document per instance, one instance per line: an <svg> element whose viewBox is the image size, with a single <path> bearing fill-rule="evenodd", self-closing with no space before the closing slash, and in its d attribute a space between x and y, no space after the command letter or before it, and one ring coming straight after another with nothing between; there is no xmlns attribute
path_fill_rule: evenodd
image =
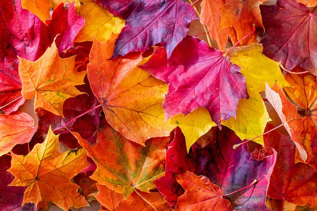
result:
<svg viewBox="0 0 317 211"><path fill-rule="evenodd" d="M68 98L83 94L74 86L84 84L86 71L77 72L75 56L60 58L55 43L35 62L19 58L21 94L34 100L34 109L42 107L56 115L63 115Z"/></svg>

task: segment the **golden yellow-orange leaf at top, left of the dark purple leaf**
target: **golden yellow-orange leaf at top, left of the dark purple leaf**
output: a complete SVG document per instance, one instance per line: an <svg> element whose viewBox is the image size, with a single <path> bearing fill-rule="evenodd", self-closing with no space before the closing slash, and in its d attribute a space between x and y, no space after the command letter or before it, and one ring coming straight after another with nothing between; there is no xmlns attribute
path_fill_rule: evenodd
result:
<svg viewBox="0 0 317 211"><path fill-rule="evenodd" d="M117 36L125 26L124 19L110 14L94 0L81 0L78 14L85 18L85 26L78 33L76 42L93 41L94 36L105 42L112 33Z"/></svg>

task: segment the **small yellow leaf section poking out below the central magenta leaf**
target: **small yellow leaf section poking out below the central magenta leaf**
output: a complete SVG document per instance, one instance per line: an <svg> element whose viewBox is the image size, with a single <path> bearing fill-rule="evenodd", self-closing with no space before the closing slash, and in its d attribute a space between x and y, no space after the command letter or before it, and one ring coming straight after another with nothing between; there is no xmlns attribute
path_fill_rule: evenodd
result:
<svg viewBox="0 0 317 211"><path fill-rule="evenodd" d="M197 108L186 116L179 113L168 119L168 122L179 126L182 130L186 140L187 152L197 139L217 125L211 120L210 113L206 108Z"/></svg>

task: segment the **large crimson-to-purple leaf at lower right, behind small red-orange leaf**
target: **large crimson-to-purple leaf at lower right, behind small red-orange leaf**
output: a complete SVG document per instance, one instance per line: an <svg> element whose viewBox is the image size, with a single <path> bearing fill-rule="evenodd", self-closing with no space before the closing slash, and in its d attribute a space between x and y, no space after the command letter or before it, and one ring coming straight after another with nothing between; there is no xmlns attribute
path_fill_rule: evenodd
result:
<svg viewBox="0 0 317 211"><path fill-rule="evenodd" d="M180 129L175 129L175 138L168 147L166 175L154 181L157 189L172 207L176 196L183 192L180 188L175 188L179 187L179 184L174 182L172 176L190 171L196 175L206 176L210 182L220 187L223 194L229 194L225 197L230 200L235 210L269 210L265 205L265 199L276 152L262 160L256 160L251 157L247 145L233 150L232 146L241 140L233 131L223 127L206 147L199 148L193 145L187 155L186 148L178 148L182 146L178 142L185 144L185 139L179 133ZM254 180L257 180L254 186L242 189ZM237 190L240 191L230 194Z"/></svg>

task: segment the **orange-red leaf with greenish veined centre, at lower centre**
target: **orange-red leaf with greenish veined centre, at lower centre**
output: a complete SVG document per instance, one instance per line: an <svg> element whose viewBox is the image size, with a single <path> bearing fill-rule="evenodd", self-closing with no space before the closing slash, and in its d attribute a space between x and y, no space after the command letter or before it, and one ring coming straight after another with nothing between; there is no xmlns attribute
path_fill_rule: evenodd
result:
<svg viewBox="0 0 317 211"><path fill-rule="evenodd" d="M164 174L168 137L149 139L143 147L124 138L106 122L100 124L94 144L71 133L97 164L91 179L123 194L124 198L136 189L143 192L155 189L153 180Z"/></svg>

